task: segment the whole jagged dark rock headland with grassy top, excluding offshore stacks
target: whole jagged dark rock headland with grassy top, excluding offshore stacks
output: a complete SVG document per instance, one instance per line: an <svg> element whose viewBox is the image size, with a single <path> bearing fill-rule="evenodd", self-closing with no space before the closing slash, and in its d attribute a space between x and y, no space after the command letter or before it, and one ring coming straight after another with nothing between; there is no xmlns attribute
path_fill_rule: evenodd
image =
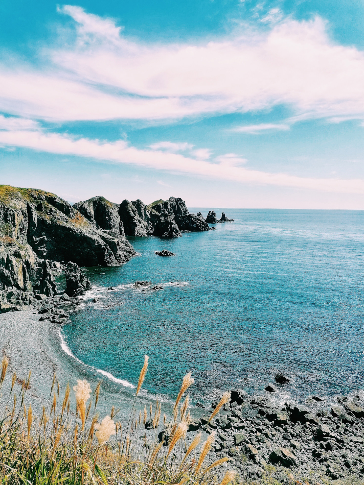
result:
<svg viewBox="0 0 364 485"><path fill-rule="evenodd" d="M61 270L66 292L83 294L90 286L79 266L128 261L135 251L126 236L174 238L181 230L209 230L181 198L147 206L98 196L71 206L50 192L0 185L0 310L36 306L36 294L53 296Z"/></svg>

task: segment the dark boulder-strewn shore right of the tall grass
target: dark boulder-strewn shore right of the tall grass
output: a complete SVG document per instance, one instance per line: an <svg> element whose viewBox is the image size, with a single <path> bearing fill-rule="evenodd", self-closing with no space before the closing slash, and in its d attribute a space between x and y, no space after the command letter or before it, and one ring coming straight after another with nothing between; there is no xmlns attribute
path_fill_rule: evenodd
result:
<svg viewBox="0 0 364 485"><path fill-rule="evenodd" d="M312 401L320 403L319 410L310 407ZM362 483L364 391L334 401L337 405L328 406L324 398L313 396L307 407L290 402L276 408L266 394L249 397L244 390L233 390L230 403L209 425L216 403L189 431L214 432L210 461L229 456L242 477L259 479L268 471L285 485Z"/></svg>

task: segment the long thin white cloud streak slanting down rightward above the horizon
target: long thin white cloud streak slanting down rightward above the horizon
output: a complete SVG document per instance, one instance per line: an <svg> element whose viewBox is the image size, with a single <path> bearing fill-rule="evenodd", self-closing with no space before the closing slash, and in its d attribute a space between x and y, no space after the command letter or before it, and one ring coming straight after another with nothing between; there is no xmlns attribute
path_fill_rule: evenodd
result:
<svg viewBox="0 0 364 485"><path fill-rule="evenodd" d="M348 194L364 194L364 180L339 178L303 178L288 174L274 174L234 166L244 162L234 154L217 157L218 163L210 163L162 150L142 150L119 140L113 143L87 138L76 139L57 133L42 131L0 131L0 144L23 146L37 151L62 155L76 155L96 160L128 163L140 167L183 173L203 178L233 180L242 183L278 185ZM232 163L229 163L232 162Z"/></svg>

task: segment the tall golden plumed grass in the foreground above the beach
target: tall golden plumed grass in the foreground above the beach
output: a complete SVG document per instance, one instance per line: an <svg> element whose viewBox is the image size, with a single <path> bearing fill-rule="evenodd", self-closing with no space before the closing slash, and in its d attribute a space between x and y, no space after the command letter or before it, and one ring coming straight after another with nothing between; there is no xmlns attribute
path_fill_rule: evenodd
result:
<svg viewBox="0 0 364 485"><path fill-rule="evenodd" d="M5 411L0 419L0 479L2 484L22 485L166 485L188 484L228 485L236 482L236 474L226 469L227 457L205 466L205 458L215 439L215 432L200 443L198 432L188 446L185 442L191 421L188 395L182 396L193 384L191 372L183 377L182 387L169 422L161 416L158 401L153 409L137 410L136 396L148 369L145 356L140 372L135 400L126 429L116 421L118 410L113 406L109 416L99 420L97 403L100 384L92 394L85 380L73 386L76 409L71 409L71 389L61 391L54 375L48 405L41 417L34 417L31 405L26 405L31 372L27 381L18 381L14 373L10 392L2 389L8 359L1 363L0 393ZM10 387L10 383L9 383ZM92 394L92 397L91 397ZM64 397L63 397L64 396ZM91 400L90 400L91 397ZM211 419L230 399L225 393ZM152 429L145 423L152 420ZM165 433L158 438L158 424ZM110 438L113 437L111 440Z"/></svg>

